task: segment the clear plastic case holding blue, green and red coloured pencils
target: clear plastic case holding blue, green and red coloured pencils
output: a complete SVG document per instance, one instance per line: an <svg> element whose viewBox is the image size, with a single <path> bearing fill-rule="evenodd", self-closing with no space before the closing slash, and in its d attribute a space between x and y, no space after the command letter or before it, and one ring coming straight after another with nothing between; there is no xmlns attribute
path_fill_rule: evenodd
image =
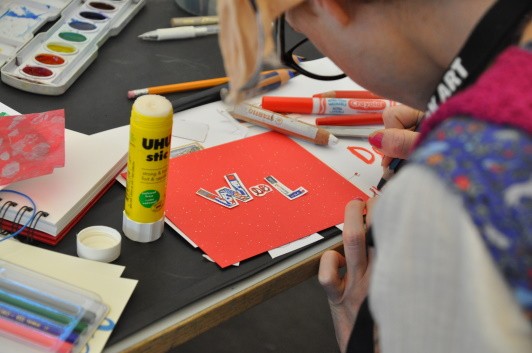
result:
<svg viewBox="0 0 532 353"><path fill-rule="evenodd" d="M0 260L2 352L81 352L108 312L95 293Z"/></svg>

